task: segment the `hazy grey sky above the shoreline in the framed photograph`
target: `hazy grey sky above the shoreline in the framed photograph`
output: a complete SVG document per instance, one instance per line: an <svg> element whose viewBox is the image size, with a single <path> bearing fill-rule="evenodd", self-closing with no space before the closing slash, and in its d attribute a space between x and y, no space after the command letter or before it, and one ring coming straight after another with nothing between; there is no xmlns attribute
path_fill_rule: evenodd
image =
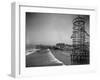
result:
<svg viewBox="0 0 100 80"><path fill-rule="evenodd" d="M76 15L26 13L26 44L72 44L72 20ZM89 26L88 23L86 26Z"/></svg>

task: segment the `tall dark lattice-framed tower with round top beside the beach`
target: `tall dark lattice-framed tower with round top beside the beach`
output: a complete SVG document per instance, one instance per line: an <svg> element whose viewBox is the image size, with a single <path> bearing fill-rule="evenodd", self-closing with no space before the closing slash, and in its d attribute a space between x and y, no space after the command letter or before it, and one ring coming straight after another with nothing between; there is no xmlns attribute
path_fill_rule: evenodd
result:
<svg viewBox="0 0 100 80"><path fill-rule="evenodd" d="M89 52L86 50L85 38L85 18L77 16L73 21L73 41L72 64L87 64L89 63Z"/></svg>

